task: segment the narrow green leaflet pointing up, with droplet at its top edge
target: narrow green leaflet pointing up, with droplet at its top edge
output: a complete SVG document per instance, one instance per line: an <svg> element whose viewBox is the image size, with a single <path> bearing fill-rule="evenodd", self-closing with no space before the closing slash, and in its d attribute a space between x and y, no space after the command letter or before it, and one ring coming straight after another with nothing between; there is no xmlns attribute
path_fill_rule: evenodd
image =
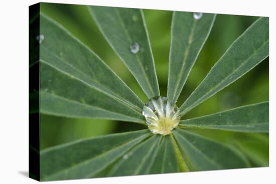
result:
<svg viewBox="0 0 276 184"><path fill-rule="evenodd" d="M168 98L176 102L215 21L215 14L195 19L190 12L174 12L171 27Z"/></svg>

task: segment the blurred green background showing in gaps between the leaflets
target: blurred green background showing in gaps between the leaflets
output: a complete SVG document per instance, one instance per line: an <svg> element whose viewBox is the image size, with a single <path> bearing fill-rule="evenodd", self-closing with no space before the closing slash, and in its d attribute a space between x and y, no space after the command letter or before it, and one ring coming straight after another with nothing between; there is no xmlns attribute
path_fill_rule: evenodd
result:
<svg viewBox="0 0 276 184"><path fill-rule="evenodd" d="M100 34L86 6L41 3L41 12L63 25L109 65L144 101L147 97L133 76ZM166 96L170 50L171 11L144 10L153 49L162 96ZM231 43L258 17L217 15L204 45L178 100L180 106L204 79ZM112 28L110 28L112 29ZM184 118L215 113L241 105L268 100L268 58L241 79L190 111ZM41 146L70 142L79 138L147 128L143 125L101 119L74 119L41 114ZM191 130L195 131L195 130ZM268 165L268 135L197 130L198 133L233 144L244 152L252 166Z"/></svg>

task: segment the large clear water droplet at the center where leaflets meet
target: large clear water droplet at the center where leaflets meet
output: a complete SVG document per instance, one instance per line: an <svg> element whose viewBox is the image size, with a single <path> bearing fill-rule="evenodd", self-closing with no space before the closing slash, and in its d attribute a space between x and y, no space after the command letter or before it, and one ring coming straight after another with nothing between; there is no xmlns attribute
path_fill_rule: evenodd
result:
<svg viewBox="0 0 276 184"><path fill-rule="evenodd" d="M168 135L180 122L177 105L166 97L153 97L143 107L149 129L154 134Z"/></svg>

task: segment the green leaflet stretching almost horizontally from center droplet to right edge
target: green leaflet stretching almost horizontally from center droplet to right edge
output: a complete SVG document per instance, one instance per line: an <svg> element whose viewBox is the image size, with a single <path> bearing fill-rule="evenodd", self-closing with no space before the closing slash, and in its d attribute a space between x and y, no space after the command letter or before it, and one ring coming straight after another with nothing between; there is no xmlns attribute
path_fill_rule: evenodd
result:
<svg viewBox="0 0 276 184"><path fill-rule="evenodd" d="M268 133L268 108L268 102L245 105L207 116L182 120L179 127Z"/></svg>

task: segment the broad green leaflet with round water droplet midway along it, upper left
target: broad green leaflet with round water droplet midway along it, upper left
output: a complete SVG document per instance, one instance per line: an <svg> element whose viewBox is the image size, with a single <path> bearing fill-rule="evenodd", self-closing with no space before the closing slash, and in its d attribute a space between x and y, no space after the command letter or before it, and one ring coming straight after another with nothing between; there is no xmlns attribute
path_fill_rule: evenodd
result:
<svg viewBox="0 0 276 184"><path fill-rule="evenodd" d="M144 14L139 9L88 7L101 33L148 98L160 96ZM134 52L131 47L134 46Z"/></svg>

